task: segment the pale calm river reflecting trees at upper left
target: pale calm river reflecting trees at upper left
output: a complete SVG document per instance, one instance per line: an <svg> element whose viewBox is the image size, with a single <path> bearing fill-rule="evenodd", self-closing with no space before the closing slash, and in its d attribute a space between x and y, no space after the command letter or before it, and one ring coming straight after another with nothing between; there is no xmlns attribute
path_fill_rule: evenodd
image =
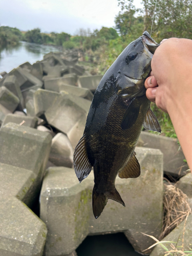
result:
<svg viewBox="0 0 192 256"><path fill-rule="evenodd" d="M4 47L0 49L0 73L10 72L19 65L28 61L31 64L41 60L49 52L60 52L61 48L44 46L21 41L18 46Z"/></svg>

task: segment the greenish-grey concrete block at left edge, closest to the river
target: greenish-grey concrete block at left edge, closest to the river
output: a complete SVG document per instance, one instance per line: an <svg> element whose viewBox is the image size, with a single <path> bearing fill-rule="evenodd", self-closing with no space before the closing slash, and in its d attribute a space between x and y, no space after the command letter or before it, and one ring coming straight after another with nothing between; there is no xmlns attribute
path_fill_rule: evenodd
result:
<svg viewBox="0 0 192 256"><path fill-rule="evenodd" d="M0 87L0 104L13 113L19 104L19 98L2 86Z"/></svg>

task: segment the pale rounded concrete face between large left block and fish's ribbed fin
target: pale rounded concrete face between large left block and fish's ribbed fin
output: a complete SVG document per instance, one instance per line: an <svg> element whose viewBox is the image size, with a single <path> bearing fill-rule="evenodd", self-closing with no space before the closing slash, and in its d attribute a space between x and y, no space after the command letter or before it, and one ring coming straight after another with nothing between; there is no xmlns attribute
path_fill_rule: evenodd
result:
<svg viewBox="0 0 192 256"><path fill-rule="evenodd" d="M52 139L49 161L56 166L72 167L73 147L65 134L57 133Z"/></svg>

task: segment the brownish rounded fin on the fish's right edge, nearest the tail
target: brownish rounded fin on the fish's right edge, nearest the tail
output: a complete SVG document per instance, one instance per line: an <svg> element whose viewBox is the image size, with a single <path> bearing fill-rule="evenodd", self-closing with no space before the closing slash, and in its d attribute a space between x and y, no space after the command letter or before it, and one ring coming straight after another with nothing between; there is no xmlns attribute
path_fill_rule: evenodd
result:
<svg viewBox="0 0 192 256"><path fill-rule="evenodd" d="M136 153L132 155L130 160L127 162L127 164L124 166L122 170L120 170L118 176L121 179L127 179L127 178L137 178L140 175L140 164L136 158Z"/></svg>

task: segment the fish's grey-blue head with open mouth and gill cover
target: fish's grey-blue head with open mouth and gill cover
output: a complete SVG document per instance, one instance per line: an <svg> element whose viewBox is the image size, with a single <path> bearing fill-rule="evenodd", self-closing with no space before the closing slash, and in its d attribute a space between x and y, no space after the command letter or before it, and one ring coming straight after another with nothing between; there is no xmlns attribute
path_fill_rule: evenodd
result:
<svg viewBox="0 0 192 256"><path fill-rule="evenodd" d="M115 91L124 98L145 94L144 81L151 72L151 60L159 44L143 33L131 42L114 62Z"/></svg>

